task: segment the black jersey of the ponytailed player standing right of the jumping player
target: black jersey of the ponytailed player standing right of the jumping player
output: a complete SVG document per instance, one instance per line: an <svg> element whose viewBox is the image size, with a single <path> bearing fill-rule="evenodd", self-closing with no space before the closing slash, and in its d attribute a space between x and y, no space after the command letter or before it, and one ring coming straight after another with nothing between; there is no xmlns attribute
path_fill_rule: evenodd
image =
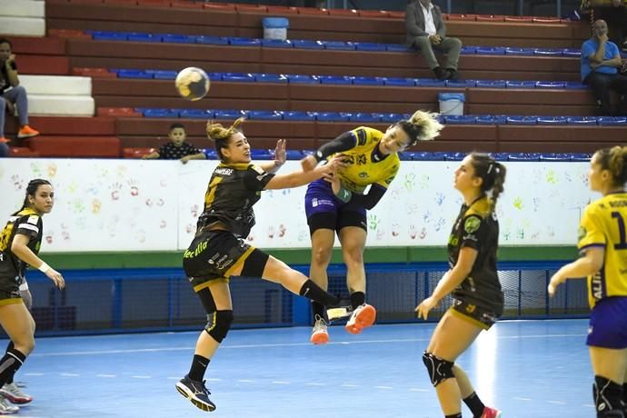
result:
<svg viewBox="0 0 627 418"><path fill-rule="evenodd" d="M503 291L496 273L496 251L499 244L499 222L491 211L487 196L470 206L463 204L449 237L448 254L451 268L457 264L463 247L477 250L473 270L454 291L453 297L469 304L503 313Z"/></svg>

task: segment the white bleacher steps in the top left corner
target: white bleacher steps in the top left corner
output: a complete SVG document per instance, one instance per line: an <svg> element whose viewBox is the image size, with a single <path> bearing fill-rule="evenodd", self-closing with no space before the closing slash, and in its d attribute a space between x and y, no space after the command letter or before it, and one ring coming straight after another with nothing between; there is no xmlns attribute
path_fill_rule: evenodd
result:
<svg viewBox="0 0 627 418"><path fill-rule="evenodd" d="M44 36L43 0L0 0L0 34Z"/></svg>

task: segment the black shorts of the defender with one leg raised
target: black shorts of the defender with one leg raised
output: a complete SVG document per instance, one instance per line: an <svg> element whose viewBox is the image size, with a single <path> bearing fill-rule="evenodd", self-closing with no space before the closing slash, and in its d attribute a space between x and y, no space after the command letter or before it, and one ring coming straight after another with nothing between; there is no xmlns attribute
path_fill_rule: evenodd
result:
<svg viewBox="0 0 627 418"><path fill-rule="evenodd" d="M241 275L261 277L268 257L228 231L209 231L194 237L184 253L183 269L198 292L213 280L227 281L242 264Z"/></svg>

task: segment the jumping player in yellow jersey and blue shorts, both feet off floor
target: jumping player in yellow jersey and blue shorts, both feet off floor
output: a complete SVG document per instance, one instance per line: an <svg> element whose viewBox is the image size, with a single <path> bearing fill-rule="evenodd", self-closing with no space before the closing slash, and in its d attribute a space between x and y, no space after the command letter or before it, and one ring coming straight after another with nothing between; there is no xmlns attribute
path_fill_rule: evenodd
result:
<svg viewBox="0 0 627 418"><path fill-rule="evenodd" d="M345 329L361 333L374 323L376 310L366 304L366 277L363 268L363 249L368 230L366 210L376 205L398 172L401 161L398 153L418 141L429 141L440 134L443 125L435 114L415 112L408 120L391 125L384 133L360 126L341 134L324 144L315 154L303 160L304 171L334 154L345 155L348 166L338 170L337 176L309 184L305 195L305 213L312 238L310 277L326 289L326 269L331 262L333 242L337 234L342 244L346 264L346 285L351 295L350 318ZM366 188L370 190L364 194ZM324 305L312 302L314 330L311 342L328 343L328 318Z"/></svg>

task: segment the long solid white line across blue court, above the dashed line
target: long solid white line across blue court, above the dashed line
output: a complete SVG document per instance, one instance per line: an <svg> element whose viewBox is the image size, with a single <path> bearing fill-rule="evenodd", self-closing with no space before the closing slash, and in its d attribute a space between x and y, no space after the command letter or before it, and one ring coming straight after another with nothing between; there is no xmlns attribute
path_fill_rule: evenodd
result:
<svg viewBox="0 0 627 418"><path fill-rule="evenodd" d="M542 334L542 335L509 335L509 336L497 336L496 340L523 340L526 338L572 338L572 337L584 337L585 333L554 333L554 334ZM351 344L377 344L377 343L424 343L431 340L429 338L400 338L391 340L362 340L353 341ZM344 345L346 342L328 343L327 345ZM220 350L229 349L251 349L251 348L273 348L273 347L310 347L312 343L272 343L272 344L239 344L239 345L224 345L220 347ZM83 352L64 352L64 353L34 353L30 356L33 357L61 357L61 356L75 356L75 355L98 355L98 354L119 354L119 353L162 353L162 352L178 352L178 351L191 351L195 346L189 347L163 347L163 348L135 348L128 350L95 350L95 351L83 351Z"/></svg>

